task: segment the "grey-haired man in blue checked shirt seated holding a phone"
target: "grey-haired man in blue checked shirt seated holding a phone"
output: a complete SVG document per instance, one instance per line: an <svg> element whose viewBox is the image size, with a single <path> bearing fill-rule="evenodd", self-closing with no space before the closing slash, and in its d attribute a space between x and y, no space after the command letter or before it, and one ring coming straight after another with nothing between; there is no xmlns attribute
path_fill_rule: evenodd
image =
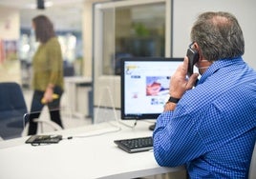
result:
<svg viewBox="0 0 256 179"><path fill-rule="evenodd" d="M242 58L243 31L228 12L204 12L191 40L202 76L187 80L187 57L173 74L153 133L155 158L164 167L185 165L190 178L247 178L256 139L256 71Z"/></svg>

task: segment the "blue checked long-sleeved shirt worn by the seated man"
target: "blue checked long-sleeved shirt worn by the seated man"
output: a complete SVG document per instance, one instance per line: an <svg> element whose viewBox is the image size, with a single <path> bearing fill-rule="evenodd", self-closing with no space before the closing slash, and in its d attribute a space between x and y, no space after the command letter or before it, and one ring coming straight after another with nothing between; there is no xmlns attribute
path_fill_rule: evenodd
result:
<svg viewBox="0 0 256 179"><path fill-rule="evenodd" d="M242 59L214 62L153 133L160 166L191 178L246 178L256 139L256 71Z"/></svg>

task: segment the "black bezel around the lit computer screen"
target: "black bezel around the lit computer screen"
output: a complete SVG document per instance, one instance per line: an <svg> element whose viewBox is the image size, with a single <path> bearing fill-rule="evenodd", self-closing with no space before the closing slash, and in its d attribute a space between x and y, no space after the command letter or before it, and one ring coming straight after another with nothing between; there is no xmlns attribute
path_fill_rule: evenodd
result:
<svg viewBox="0 0 256 179"><path fill-rule="evenodd" d="M120 66L120 90L121 90L121 120L140 120L140 119L157 119L160 113L139 113L139 114L125 114L125 91L124 91L124 83L125 83L125 62L133 62L133 61L147 61L147 62L156 62L156 61L170 61L170 62L182 62L183 58L181 57L125 57L121 58L121 66Z"/></svg>

